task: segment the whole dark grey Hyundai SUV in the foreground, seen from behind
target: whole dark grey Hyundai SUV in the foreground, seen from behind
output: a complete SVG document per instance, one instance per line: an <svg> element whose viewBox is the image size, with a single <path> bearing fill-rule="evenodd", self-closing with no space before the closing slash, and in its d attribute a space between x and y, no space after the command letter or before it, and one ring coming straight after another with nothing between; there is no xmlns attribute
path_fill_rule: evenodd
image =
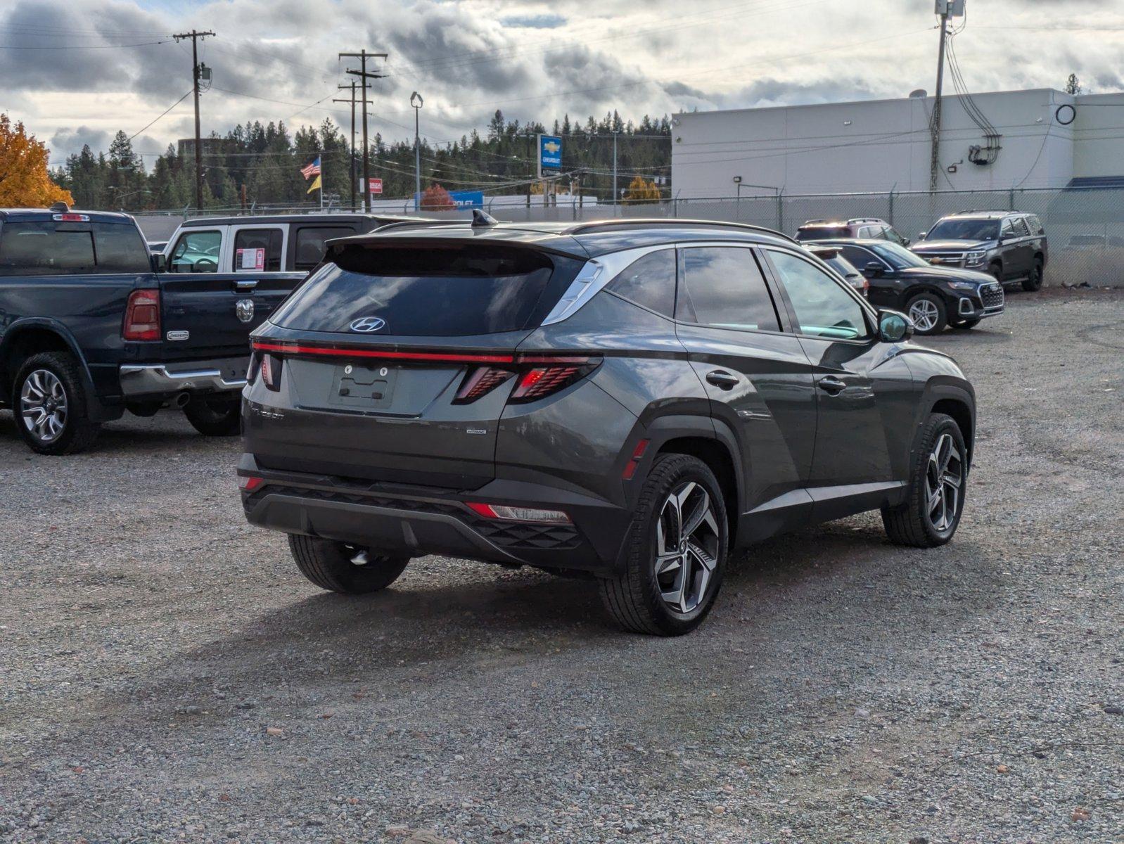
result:
<svg viewBox="0 0 1124 844"><path fill-rule="evenodd" d="M751 226L334 241L253 335L243 505L324 589L448 554L592 575L625 628L686 633L780 530L881 509L897 543L952 537L975 393L909 330Z"/></svg>

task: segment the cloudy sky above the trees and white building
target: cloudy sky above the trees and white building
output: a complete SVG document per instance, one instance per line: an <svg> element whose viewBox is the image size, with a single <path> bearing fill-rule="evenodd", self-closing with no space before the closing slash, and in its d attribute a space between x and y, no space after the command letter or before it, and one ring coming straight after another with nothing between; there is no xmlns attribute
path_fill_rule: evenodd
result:
<svg viewBox="0 0 1124 844"><path fill-rule="evenodd" d="M192 134L190 44L210 29L203 133L333 117L353 61L377 66L372 131L434 142L508 118L904 97L932 90L933 0L0 0L0 110L52 148L105 148L117 129L157 153ZM957 52L973 92L1124 89L1124 0L968 0ZM149 160L151 161L151 160Z"/></svg>

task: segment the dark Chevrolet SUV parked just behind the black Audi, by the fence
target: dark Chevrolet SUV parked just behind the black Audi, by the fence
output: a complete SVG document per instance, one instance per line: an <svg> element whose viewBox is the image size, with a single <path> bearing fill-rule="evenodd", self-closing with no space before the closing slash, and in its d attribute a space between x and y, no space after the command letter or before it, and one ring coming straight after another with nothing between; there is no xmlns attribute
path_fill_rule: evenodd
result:
<svg viewBox="0 0 1124 844"><path fill-rule="evenodd" d="M962 266L1000 284L1042 287L1049 252L1042 221L1022 211L960 211L942 217L913 251L939 266Z"/></svg>

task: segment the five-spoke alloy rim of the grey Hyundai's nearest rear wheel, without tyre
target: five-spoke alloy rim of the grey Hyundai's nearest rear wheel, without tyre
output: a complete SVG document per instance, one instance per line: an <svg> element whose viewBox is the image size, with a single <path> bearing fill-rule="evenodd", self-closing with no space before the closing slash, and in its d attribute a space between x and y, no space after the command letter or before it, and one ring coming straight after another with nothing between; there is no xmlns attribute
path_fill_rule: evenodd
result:
<svg viewBox="0 0 1124 844"><path fill-rule="evenodd" d="M669 609L687 615L705 602L719 541L710 496L695 481L680 483L655 525L655 580Z"/></svg>

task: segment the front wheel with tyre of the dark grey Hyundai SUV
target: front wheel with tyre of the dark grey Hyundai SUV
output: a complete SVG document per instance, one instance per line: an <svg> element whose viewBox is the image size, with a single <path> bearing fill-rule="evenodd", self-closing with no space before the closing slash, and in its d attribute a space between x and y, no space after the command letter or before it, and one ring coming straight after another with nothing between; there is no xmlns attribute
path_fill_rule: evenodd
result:
<svg viewBox="0 0 1124 844"><path fill-rule="evenodd" d="M882 525L896 545L944 545L957 533L968 491L968 451L955 419L931 415L914 460L906 501L883 507Z"/></svg>

